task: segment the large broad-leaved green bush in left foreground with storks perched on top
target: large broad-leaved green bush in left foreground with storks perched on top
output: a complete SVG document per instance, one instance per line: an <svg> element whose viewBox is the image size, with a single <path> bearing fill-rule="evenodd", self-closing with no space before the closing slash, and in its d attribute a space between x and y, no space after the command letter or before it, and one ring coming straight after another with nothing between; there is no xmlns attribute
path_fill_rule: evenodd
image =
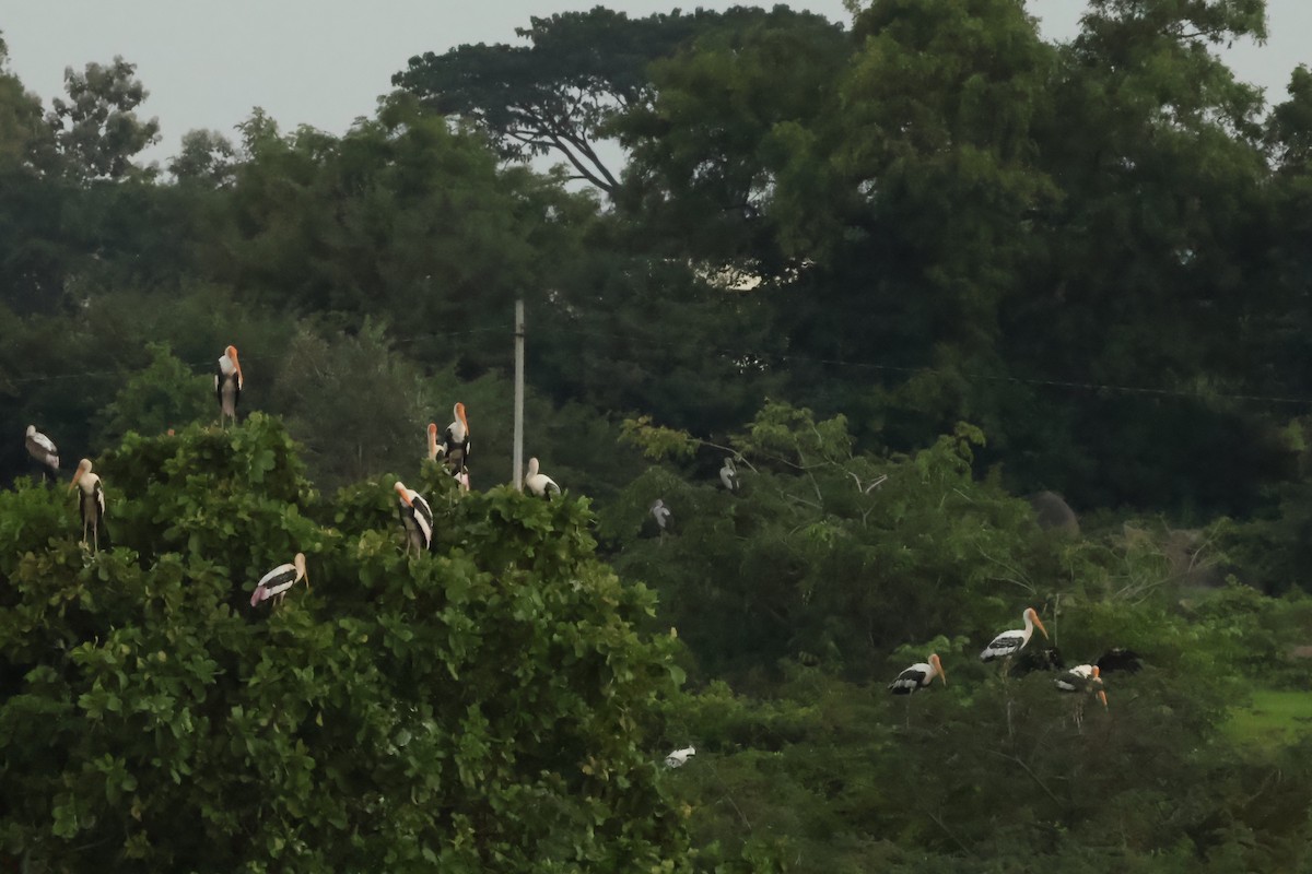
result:
<svg viewBox="0 0 1312 874"><path fill-rule="evenodd" d="M408 558L395 512L375 529L354 511L362 493L314 522L333 511L261 414L130 434L98 469L115 545L94 556L46 489L0 495L3 852L50 870L682 867L648 739L680 675L634 625L651 595L592 557L585 506L453 493L440 552ZM252 609L297 550L312 588Z"/></svg>

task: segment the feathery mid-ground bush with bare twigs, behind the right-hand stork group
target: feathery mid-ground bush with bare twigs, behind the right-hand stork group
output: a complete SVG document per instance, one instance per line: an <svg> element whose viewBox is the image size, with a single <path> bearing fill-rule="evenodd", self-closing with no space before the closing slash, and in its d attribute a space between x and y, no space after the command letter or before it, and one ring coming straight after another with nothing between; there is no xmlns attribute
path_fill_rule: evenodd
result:
<svg viewBox="0 0 1312 874"><path fill-rule="evenodd" d="M769 404L733 444L741 494L648 470L606 514L622 573L646 579L710 676L781 658L866 677L874 658L941 629L983 632L1061 591L1027 504L971 474L960 426L912 459L854 455L841 418ZM639 539L652 499L674 536ZM1023 603L1022 603L1023 601Z"/></svg>

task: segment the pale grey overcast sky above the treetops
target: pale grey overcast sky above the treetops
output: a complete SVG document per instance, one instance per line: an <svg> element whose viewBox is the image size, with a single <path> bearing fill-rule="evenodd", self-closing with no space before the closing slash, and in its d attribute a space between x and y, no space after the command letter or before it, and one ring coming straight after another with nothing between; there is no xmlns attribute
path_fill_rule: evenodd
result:
<svg viewBox="0 0 1312 874"><path fill-rule="evenodd" d="M306 123L341 134L356 118L373 115L375 98L412 55L467 42L516 42L514 28L530 16L598 3L639 17L774 0L9 0L0 31L10 69L47 105L63 92L64 67L81 69L114 55L135 63L150 90L142 113L157 117L164 135L150 157L163 160L189 130L234 135L256 106L283 130ZM850 22L842 0L789 5ZM1067 39L1085 4L1029 0L1029 8L1048 38ZM1294 67L1312 64L1312 0L1267 0L1267 45L1236 45L1225 59L1279 102Z"/></svg>

